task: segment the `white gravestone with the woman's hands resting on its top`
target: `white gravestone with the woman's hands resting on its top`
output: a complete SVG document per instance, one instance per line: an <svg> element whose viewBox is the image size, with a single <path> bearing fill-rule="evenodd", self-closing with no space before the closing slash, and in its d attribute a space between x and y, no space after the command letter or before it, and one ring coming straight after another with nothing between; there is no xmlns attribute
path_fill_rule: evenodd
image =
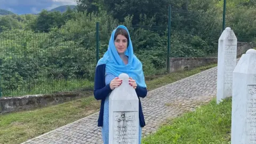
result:
<svg viewBox="0 0 256 144"><path fill-rule="evenodd" d="M109 95L109 143L139 143L139 99L129 76Z"/></svg>

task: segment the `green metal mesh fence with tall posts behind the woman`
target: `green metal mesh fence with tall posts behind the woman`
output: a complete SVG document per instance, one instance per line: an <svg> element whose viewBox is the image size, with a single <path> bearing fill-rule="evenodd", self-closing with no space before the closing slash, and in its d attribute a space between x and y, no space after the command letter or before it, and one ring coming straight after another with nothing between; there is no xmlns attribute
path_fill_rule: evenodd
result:
<svg viewBox="0 0 256 144"><path fill-rule="evenodd" d="M212 12L169 9L165 26L127 26L145 75L165 73L169 57L217 57L225 27L235 31L238 42L255 42L255 10L241 3L226 5ZM93 90L96 63L114 29L102 27L95 23L93 36L82 40L17 29L0 33L3 96Z"/></svg>

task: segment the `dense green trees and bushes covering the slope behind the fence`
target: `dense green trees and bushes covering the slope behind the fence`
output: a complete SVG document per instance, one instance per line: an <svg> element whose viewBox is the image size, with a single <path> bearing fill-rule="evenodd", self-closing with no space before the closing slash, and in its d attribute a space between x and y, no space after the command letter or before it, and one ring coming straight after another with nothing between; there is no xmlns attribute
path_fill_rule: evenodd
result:
<svg viewBox="0 0 256 144"><path fill-rule="evenodd" d="M122 24L130 29L145 75L157 74L166 69L169 5L171 57L217 56L223 0L77 2L77 10L63 13L44 10L38 15L0 17L4 94L86 88L82 82L93 81L96 65L96 22L100 26L100 57L107 50L111 31ZM235 31L238 41L256 42L255 8L249 0L228 1L226 26ZM53 85L61 88L53 89Z"/></svg>

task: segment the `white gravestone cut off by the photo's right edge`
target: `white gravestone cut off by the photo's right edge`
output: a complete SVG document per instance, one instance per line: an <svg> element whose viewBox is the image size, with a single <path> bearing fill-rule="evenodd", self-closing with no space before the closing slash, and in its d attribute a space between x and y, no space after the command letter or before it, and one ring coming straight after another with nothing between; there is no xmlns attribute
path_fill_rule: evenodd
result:
<svg viewBox="0 0 256 144"><path fill-rule="evenodd" d="M231 143L256 143L256 50L242 55L233 71Z"/></svg>

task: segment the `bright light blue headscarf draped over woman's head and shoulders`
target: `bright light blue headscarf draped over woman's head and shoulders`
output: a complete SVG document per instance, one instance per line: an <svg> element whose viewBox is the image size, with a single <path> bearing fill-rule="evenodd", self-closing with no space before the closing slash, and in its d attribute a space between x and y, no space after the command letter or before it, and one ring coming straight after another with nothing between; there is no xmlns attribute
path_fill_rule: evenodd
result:
<svg viewBox="0 0 256 144"><path fill-rule="evenodd" d="M127 31L129 35L129 46L125 51L125 55L129 57L127 65L124 64L123 60L120 58L114 43L114 36L118 28L123 28ZM141 87L147 87L145 83L145 77L142 70L142 63L133 54L132 41L128 29L125 26L118 26L113 30L111 37L109 39L108 50L103 55L98 63L98 65L106 64L106 73L113 74L118 77L121 73L126 73L129 77L135 79L137 85Z"/></svg>

